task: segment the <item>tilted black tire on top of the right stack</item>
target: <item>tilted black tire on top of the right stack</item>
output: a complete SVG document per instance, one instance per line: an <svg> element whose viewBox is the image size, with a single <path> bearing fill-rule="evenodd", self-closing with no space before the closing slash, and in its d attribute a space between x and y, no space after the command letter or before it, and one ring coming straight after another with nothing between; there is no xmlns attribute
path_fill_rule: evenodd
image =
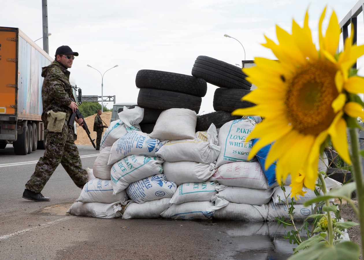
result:
<svg viewBox="0 0 364 260"><path fill-rule="evenodd" d="M218 87L248 90L252 87L252 83L245 79L246 75L241 68L207 56L197 57L192 68L192 75Z"/></svg>

